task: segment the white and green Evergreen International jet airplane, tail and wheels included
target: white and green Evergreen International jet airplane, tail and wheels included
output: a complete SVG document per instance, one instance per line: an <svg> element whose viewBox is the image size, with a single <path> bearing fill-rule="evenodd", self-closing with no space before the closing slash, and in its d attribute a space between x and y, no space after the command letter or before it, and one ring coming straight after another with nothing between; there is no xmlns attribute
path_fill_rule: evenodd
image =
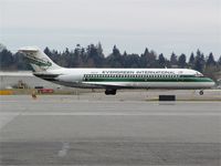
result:
<svg viewBox="0 0 221 166"><path fill-rule="evenodd" d="M104 89L115 95L120 89L200 90L214 86L202 73L190 69L67 69L55 64L38 46L19 50L33 68L33 75L43 80L82 89Z"/></svg>

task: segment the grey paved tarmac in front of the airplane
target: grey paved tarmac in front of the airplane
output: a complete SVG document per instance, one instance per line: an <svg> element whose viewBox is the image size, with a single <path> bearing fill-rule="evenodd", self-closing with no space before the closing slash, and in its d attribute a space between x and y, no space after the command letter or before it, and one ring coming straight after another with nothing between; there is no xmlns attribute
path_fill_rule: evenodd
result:
<svg viewBox="0 0 221 166"><path fill-rule="evenodd" d="M189 91L175 93L185 98ZM221 165L219 94L213 101L150 96L0 96L0 165Z"/></svg>

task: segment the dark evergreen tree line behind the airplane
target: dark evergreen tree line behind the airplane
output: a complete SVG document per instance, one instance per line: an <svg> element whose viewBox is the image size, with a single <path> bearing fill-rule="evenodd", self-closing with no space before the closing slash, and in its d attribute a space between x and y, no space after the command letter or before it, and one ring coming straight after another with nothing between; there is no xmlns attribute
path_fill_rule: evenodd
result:
<svg viewBox="0 0 221 166"><path fill-rule="evenodd" d="M102 44L97 43L86 48L77 44L73 50L66 48L61 52L46 46L44 53L55 63L65 68L181 68L197 70L213 79L215 79L214 73L221 70L221 56L215 61L212 52L204 55L200 50L197 50L196 53L192 52L189 59L183 53L180 55L171 53L167 59L162 53L157 54L147 48L141 54L129 54L126 51L122 53L114 45L112 53L105 56ZM12 53L4 49L0 52L0 70L31 70L31 66L21 53Z"/></svg>

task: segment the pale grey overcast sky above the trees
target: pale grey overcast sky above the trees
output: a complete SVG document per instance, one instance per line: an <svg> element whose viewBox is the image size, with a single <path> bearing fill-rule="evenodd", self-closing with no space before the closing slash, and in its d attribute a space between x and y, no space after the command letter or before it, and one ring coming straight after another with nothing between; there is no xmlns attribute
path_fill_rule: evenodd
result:
<svg viewBox="0 0 221 166"><path fill-rule="evenodd" d="M221 0L0 0L0 43L221 55Z"/></svg>

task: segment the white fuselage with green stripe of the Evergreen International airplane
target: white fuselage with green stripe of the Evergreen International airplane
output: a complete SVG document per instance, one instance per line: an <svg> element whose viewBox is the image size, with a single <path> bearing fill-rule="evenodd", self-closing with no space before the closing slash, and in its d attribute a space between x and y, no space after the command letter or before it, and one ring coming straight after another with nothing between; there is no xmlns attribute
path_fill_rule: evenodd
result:
<svg viewBox="0 0 221 166"><path fill-rule="evenodd" d="M214 85L211 79L188 69L62 68L34 74L61 85L85 89L210 89Z"/></svg>

